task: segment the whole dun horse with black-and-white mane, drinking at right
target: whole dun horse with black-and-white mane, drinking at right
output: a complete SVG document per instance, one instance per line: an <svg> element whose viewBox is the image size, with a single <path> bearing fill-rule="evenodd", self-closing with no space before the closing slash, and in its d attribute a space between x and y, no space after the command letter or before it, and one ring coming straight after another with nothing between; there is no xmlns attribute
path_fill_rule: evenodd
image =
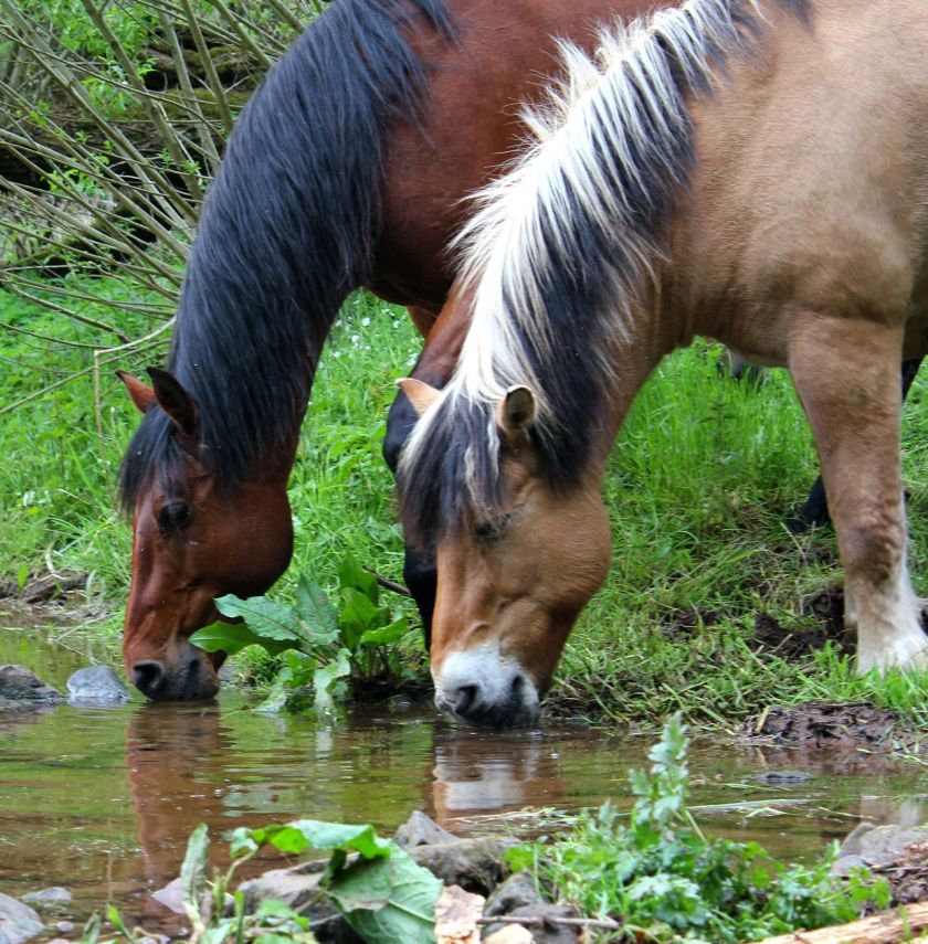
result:
<svg viewBox="0 0 928 944"><path fill-rule="evenodd" d="M926 47L921 0L687 0L592 56L565 44L531 147L458 237L453 376L403 381L421 420L401 511L436 554L440 708L535 722L607 574L618 427L696 335L791 373L858 671L925 665L898 378L928 350Z"/></svg>

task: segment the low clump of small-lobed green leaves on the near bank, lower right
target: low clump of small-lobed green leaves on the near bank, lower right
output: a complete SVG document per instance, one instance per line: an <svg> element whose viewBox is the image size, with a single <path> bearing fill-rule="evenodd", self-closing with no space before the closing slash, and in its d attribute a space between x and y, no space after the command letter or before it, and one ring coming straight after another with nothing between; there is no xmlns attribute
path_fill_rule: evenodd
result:
<svg viewBox="0 0 928 944"><path fill-rule="evenodd" d="M889 903L886 882L866 869L848 880L832 874L836 847L813 866L787 866L756 842L707 839L685 804L686 749L675 715L648 754L651 773L631 774L636 799L628 823L605 803L550 846L510 852L513 867L536 871L583 914L621 921L626 931L605 938L613 941L751 941L852 921L867 904Z"/></svg>

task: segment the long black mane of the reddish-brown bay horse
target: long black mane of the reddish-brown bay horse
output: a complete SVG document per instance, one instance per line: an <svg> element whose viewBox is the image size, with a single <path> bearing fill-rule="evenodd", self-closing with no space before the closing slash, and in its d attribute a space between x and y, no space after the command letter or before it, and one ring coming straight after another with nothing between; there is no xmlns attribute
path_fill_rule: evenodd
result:
<svg viewBox="0 0 928 944"><path fill-rule="evenodd" d="M452 35L443 0L338 0L243 109L212 182L181 289L168 369L200 405L203 458L233 491L299 426L345 296L380 229L386 126L415 120L425 65L403 39L422 18ZM160 409L119 473L123 507L178 446Z"/></svg>

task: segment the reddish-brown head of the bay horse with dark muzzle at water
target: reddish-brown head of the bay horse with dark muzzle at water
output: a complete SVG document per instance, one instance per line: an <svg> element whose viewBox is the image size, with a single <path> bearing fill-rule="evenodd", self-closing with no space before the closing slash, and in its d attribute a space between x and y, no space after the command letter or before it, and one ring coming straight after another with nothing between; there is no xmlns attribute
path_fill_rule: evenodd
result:
<svg viewBox="0 0 928 944"><path fill-rule="evenodd" d="M264 593L286 570L293 550L289 466L273 463L224 489L202 443L197 401L167 371L149 373L151 386L118 372L145 414L145 429L123 465L123 495L133 515L123 660L150 699L212 698L225 657L196 648L190 635L221 618L217 596Z"/></svg>

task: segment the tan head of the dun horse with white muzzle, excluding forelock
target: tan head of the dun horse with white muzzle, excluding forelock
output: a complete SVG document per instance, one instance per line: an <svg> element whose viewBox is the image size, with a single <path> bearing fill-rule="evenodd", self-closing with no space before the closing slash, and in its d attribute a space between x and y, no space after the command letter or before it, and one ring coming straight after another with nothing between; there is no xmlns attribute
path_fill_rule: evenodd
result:
<svg viewBox="0 0 928 944"><path fill-rule="evenodd" d="M402 385L420 413L439 395L420 381ZM540 468L535 420L531 391L513 388L495 411L506 507L493 517L474 511L435 540L435 703L475 724L535 723L573 623L609 568L598 476L555 489Z"/></svg>

